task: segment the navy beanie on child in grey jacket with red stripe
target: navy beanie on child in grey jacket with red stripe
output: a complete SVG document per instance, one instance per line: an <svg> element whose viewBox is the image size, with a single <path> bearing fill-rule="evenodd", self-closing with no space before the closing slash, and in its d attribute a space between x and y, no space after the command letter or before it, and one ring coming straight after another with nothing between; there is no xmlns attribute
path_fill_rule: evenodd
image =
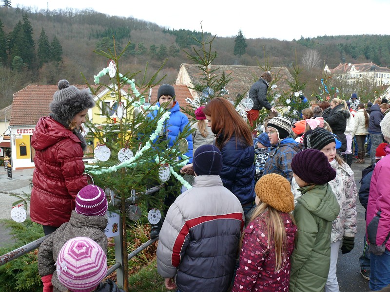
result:
<svg viewBox="0 0 390 292"><path fill-rule="evenodd" d="M214 145L199 146L193 158L196 175L216 175L222 170L222 154Z"/></svg>

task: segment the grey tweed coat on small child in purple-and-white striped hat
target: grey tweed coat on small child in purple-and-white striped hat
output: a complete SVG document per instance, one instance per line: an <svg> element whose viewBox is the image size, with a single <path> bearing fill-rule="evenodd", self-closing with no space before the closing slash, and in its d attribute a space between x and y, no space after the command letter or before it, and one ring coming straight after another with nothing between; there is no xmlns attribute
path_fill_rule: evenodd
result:
<svg viewBox="0 0 390 292"><path fill-rule="evenodd" d="M54 265L65 242L75 237L88 237L98 243L104 253L107 254L107 237L104 234L106 226L106 217L84 216L72 211L69 222L63 223L42 242L38 252L38 272L40 276L53 274L53 292L67 291L59 282L56 266Z"/></svg>

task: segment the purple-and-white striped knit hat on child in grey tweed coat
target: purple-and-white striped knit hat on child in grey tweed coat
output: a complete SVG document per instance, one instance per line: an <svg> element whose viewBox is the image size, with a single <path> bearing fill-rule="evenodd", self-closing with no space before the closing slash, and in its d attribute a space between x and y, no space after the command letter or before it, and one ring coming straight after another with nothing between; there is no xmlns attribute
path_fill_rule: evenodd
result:
<svg viewBox="0 0 390 292"><path fill-rule="evenodd" d="M76 197L76 212L85 216L104 216L107 213L106 194L97 185L84 186Z"/></svg>

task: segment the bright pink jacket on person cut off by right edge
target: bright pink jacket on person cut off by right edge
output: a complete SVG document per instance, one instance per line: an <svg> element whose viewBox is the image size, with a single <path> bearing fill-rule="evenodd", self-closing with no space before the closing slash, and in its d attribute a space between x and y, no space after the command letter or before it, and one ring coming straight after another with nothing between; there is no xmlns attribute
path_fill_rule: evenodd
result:
<svg viewBox="0 0 390 292"><path fill-rule="evenodd" d="M366 232L371 243L385 244L390 251L390 241L386 241L390 234L390 145L385 152L386 156L375 165L371 177Z"/></svg>

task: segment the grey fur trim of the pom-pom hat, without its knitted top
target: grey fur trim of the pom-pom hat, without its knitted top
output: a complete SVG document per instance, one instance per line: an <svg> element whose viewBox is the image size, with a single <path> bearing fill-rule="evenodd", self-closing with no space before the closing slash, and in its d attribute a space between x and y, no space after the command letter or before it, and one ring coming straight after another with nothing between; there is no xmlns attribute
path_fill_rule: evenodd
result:
<svg viewBox="0 0 390 292"><path fill-rule="evenodd" d="M53 101L50 104L50 110L52 111L50 116L68 128L73 117L78 112L93 108L94 106L94 98L87 89L84 89L75 96L68 97L64 100Z"/></svg>

